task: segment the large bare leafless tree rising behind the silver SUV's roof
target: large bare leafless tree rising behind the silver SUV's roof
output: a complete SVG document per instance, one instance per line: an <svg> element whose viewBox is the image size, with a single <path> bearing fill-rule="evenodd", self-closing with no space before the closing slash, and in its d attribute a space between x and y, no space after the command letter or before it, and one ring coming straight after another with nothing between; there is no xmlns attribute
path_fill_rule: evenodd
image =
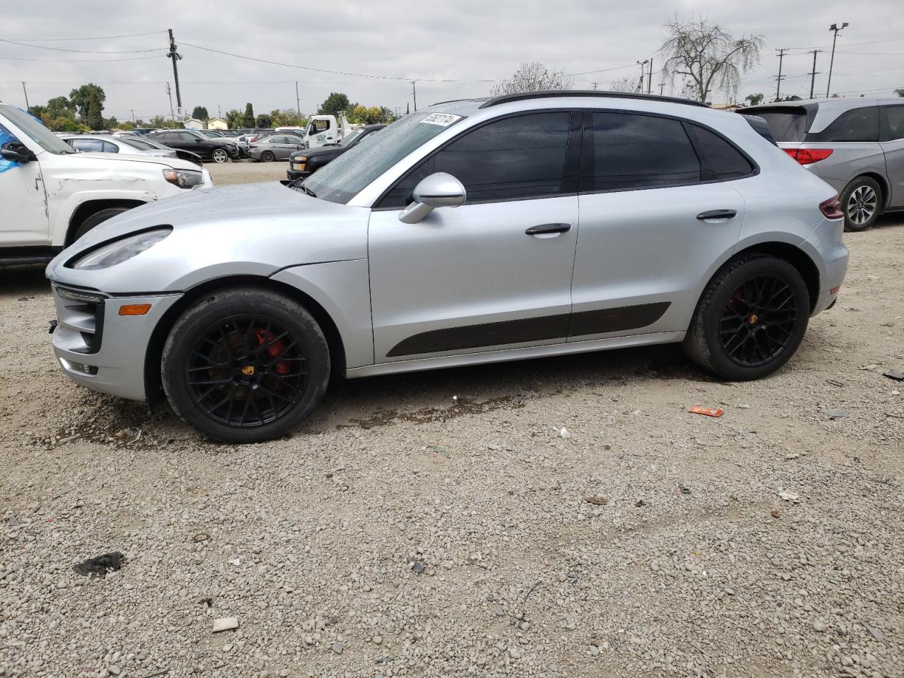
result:
<svg viewBox="0 0 904 678"><path fill-rule="evenodd" d="M685 90L706 101L714 90L737 96L741 77L759 62L762 35L739 39L705 19L679 19L665 24L667 37L660 52L663 72L672 82L680 76Z"/></svg>

